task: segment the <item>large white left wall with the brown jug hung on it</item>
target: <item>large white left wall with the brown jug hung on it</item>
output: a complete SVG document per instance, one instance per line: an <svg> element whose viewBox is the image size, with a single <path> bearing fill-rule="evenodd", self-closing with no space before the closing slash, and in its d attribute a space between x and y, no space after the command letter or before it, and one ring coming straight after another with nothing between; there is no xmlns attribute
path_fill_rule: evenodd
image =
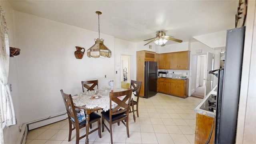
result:
<svg viewBox="0 0 256 144"><path fill-rule="evenodd" d="M65 112L60 90L82 92L82 80L99 80L99 87L108 87L114 79L114 37L101 34L112 50L111 58L76 59L75 46L86 50L98 38L92 32L52 20L14 11L18 76L23 122L30 122ZM106 74L107 78L104 78Z"/></svg>

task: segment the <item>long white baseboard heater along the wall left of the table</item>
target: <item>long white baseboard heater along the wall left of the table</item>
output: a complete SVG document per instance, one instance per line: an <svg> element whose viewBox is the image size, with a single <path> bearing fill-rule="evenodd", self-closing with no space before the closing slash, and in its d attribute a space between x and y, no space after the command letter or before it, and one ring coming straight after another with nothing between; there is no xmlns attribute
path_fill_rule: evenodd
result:
<svg viewBox="0 0 256 144"><path fill-rule="evenodd" d="M68 117L67 113L58 114L56 116L49 116L48 118L44 118L38 120L36 122L31 122L27 124L28 130L33 130L35 128L40 128L42 126L46 126L48 124L52 124L54 122L58 122L61 120L65 120Z"/></svg>

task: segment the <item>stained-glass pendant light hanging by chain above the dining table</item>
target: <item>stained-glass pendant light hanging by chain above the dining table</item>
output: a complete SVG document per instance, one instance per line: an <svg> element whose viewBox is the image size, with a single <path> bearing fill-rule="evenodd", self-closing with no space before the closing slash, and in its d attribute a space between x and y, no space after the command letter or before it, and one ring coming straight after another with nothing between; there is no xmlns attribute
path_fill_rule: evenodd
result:
<svg viewBox="0 0 256 144"><path fill-rule="evenodd" d="M110 58L111 57L111 50L109 50L104 44L104 40L100 39L100 14L102 14L102 12L100 11L96 11L96 14L98 14L98 26L99 26L99 38L94 39L95 44L90 47L87 50L87 56L93 57L93 58Z"/></svg>

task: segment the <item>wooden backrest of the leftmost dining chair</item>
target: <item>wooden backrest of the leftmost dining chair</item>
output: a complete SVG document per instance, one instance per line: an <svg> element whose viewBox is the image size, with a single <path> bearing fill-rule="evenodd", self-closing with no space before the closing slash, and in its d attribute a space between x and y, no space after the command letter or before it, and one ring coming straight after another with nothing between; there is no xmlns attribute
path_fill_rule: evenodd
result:
<svg viewBox="0 0 256 144"><path fill-rule="evenodd" d="M78 119L76 116L76 110L75 110L75 106L74 106L71 94L65 94L63 92L63 90L60 90L60 92L61 92L64 104L65 104L65 107L66 107L66 110L68 113L68 118L69 119L73 118L75 120L75 123L76 122L78 123Z"/></svg>

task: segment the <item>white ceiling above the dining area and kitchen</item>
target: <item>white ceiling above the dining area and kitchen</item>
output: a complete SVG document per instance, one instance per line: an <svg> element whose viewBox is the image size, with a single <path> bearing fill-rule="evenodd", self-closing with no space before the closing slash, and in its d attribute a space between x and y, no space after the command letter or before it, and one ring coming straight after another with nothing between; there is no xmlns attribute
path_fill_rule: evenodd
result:
<svg viewBox="0 0 256 144"><path fill-rule="evenodd" d="M153 38L159 30L183 42L194 42L193 36L234 28L238 7L238 0L8 1L14 10L95 32L95 12L101 11L100 33L130 42Z"/></svg>

